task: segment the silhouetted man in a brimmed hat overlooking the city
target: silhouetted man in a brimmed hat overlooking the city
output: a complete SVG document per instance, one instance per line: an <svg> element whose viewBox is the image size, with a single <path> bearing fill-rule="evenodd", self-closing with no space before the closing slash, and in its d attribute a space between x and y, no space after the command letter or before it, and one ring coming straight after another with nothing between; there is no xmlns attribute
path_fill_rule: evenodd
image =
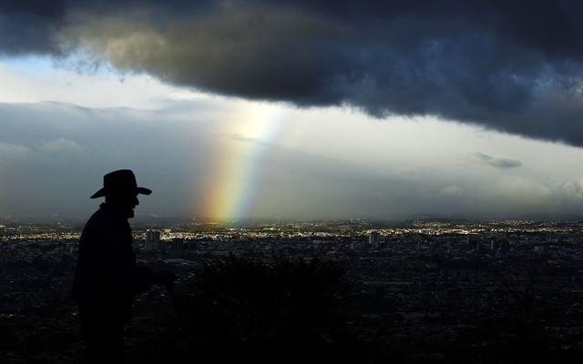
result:
<svg viewBox="0 0 583 364"><path fill-rule="evenodd" d="M174 280L136 265L128 218L134 217L138 194L150 193L138 187L131 170L121 169L104 176L103 188L91 196L106 197L106 202L81 234L72 289L90 363L122 362L124 324L131 319L134 296Z"/></svg>

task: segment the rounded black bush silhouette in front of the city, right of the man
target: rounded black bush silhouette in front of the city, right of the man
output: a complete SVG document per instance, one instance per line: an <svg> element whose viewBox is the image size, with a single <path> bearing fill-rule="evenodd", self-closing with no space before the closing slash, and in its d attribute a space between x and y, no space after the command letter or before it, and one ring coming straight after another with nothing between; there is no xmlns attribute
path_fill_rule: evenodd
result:
<svg viewBox="0 0 583 364"><path fill-rule="evenodd" d="M198 355L286 362L330 354L343 340L343 270L332 262L216 260L189 292L179 315Z"/></svg>

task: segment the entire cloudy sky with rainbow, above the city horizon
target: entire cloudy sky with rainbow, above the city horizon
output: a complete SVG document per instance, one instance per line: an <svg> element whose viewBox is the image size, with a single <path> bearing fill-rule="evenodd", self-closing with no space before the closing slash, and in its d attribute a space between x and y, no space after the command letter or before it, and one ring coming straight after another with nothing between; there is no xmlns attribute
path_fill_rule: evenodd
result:
<svg viewBox="0 0 583 364"><path fill-rule="evenodd" d="M582 215L583 6L327 3L3 3L0 215Z"/></svg>

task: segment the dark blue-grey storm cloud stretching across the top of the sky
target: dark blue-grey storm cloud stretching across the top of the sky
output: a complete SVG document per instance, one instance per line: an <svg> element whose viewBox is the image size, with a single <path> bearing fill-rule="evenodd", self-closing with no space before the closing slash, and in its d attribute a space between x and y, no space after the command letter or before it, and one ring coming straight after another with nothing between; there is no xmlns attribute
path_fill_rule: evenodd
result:
<svg viewBox="0 0 583 364"><path fill-rule="evenodd" d="M2 52L83 54L224 95L435 115L583 146L576 0L45 4L3 3Z"/></svg>

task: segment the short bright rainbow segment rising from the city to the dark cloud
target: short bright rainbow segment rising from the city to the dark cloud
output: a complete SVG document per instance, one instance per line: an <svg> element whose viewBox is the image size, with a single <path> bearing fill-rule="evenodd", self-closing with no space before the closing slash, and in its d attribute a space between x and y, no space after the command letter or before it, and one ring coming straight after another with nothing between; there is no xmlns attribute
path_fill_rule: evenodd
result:
<svg viewBox="0 0 583 364"><path fill-rule="evenodd" d="M252 217L261 193L264 157L284 135L287 113L281 106L245 102L220 133L220 143L206 168L206 180L195 202L200 217L214 220Z"/></svg>

